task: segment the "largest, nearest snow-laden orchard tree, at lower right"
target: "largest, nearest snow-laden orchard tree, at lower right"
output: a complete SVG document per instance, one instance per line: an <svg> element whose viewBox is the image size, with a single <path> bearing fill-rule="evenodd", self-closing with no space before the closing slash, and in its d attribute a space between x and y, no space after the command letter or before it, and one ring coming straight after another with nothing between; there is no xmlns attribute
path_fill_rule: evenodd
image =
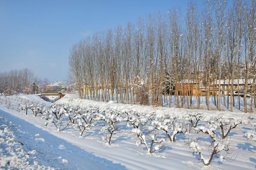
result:
<svg viewBox="0 0 256 170"><path fill-rule="evenodd" d="M197 140L188 140L185 142L185 144L189 145L189 148L191 149L192 153L198 154L200 156L200 159L204 162L205 165L209 165L214 158L220 158L221 161L223 159L232 159L231 157L228 157L230 154L233 153L233 148L230 148L230 142L231 138L227 138L227 133L221 133L221 131L224 131L224 129L227 129L230 131L232 127L235 128L237 123L231 123L227 128L224 126L224 122L227 122L227 120L224 121L219 118L212 117L212 122L208 122L208 126L197 126L194 128L195 133L203 133L207 136L199 137ZM222 128L221 128L222 127ZM224 136L223 136L224 134ZM208 150L209 156L208 158L205 158L203 155L206 155L207 152L205 152L203 149Z"/></svg>

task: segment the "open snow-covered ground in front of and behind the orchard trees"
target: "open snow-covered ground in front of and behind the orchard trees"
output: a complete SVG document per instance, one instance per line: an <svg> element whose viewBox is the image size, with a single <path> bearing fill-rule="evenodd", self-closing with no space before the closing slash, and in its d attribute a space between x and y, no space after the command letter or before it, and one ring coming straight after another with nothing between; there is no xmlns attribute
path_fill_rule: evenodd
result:
<svg viewBox="0 0 256 170"><path fill-rule="evenodd" d="M43 102L37 96L23 96L27 99L35 99L36 102ZM152 108L149 106L116 104L114 102L95 102L84 99L75 99L76 96L66 95L56 103L69 105L80 105L81 107L94 106L98 108L111 108L116 111L134 111L138 113L156 112L157 115L166 113L177 113L178 115L192 113L193 110L177 108ZM1 104L1 103L0 103ZM241 112L217 112L196 110L197 113L204 115L224 116L233 118L247 118L250 114ZM188 122L187 120L182 120ZM137 146L137 136L132 134L132 127L127 127L126 122L118 125L121 133L113 136L111 145L102 140L105 132L102 131L102 122L96 123L90 130L84 131L82 137L79 137L79 130L73 127L67 127L63 131L57 131L56 128L49 124L45 126L41 116L34 116L31 110L28 115L24 111L7 109L4 104L0 105L0 122L5 128L7 127L11 134L3 133L1 126L0 149L6 148L8 135L15 136L13 139L16 145L24 150L24 155L29 153L30 169L38 168L38 165L54 169L256 169L256 142L246 137L246 132L254 127L250 124L240 124L237 128L231 130L228 135L230 148L233 148L232 155L234 161L228 159L214 158L209 166L204 166L198 154L192 154L189 145L184 144L189 141L190 137L201 140L202 153L208 158L209 153L204 146L207 144L208 137L205 133L186 133L177 134L175 142L165 141L165 150L158 150L154 153L148 153L146 148L141 145ZM12 122L12 123L10 123ZM202 121L200 126L207 126ZM3 130L2 130L3 129ZM18 130L19 129L19 130ZM8 130L6 130L8 131ZM6 137L7 136L7 137ZM19 143L20 142L20 143ZM206 142L206 143L204 143ZM22 143L22 144L21 144ZM21 150L20 149L20 150ZM9 153L1 153L9 154ZM16 154L19 154L17 151ZM34 155L33 155L34 154ZM32 157L32 158L31 158ZM19 159L27 160L24 156ZM36 161L34 163L34 161ZM1 168L6 169L9 164L6 159L0 158ZM2 163L4 165L2 165ZM19 165L15 165L19 167ZM22 165L23 166L23 165Z"/></svg>

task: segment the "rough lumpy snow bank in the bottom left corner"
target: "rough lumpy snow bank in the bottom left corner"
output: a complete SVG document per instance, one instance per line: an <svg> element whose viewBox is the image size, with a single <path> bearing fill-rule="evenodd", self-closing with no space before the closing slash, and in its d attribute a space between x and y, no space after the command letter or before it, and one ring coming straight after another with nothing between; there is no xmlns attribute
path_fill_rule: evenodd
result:
<svg viewBox="0 0 256 170"><path fill-rule="evenodd" d="M51 169L38 164L38 152L29 150L27 139L31 136L15 126L5 117L0 116L0 167L24 169Z"/></svg>

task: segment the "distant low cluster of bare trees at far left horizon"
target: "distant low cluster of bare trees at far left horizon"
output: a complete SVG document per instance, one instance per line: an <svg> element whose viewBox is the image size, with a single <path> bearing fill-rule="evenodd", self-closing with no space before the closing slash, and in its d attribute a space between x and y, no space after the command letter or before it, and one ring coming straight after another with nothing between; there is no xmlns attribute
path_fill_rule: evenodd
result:
<svg viewBox="0 0 256 170"><path fill-rule="evenodd" d="M32 70L11 70L0 73L0 94L36 94L39 91L38 84L41 79L35 77Z"/></svg>

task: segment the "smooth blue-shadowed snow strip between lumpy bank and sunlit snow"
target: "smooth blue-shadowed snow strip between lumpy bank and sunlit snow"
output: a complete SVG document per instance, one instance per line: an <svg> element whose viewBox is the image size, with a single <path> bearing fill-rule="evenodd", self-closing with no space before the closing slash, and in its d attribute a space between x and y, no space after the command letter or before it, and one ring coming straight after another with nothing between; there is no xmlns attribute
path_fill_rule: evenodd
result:
<svg viewBox="0 0 256 170"><path fill-rule="evenodd" d="M81 148L64 139L58 138L3 110L0 110L0 116L2 117L0 118L2 119L1 122L3 122L3 119L11 122L9 124L12 124L11 129L15 134L15 140L24 144L23 149L26 152L36 151L37 158L35 161L38 164L50 166L54 169L70 170L125 169L119 164L113 164L111 161L81 150Z"/></svg>

